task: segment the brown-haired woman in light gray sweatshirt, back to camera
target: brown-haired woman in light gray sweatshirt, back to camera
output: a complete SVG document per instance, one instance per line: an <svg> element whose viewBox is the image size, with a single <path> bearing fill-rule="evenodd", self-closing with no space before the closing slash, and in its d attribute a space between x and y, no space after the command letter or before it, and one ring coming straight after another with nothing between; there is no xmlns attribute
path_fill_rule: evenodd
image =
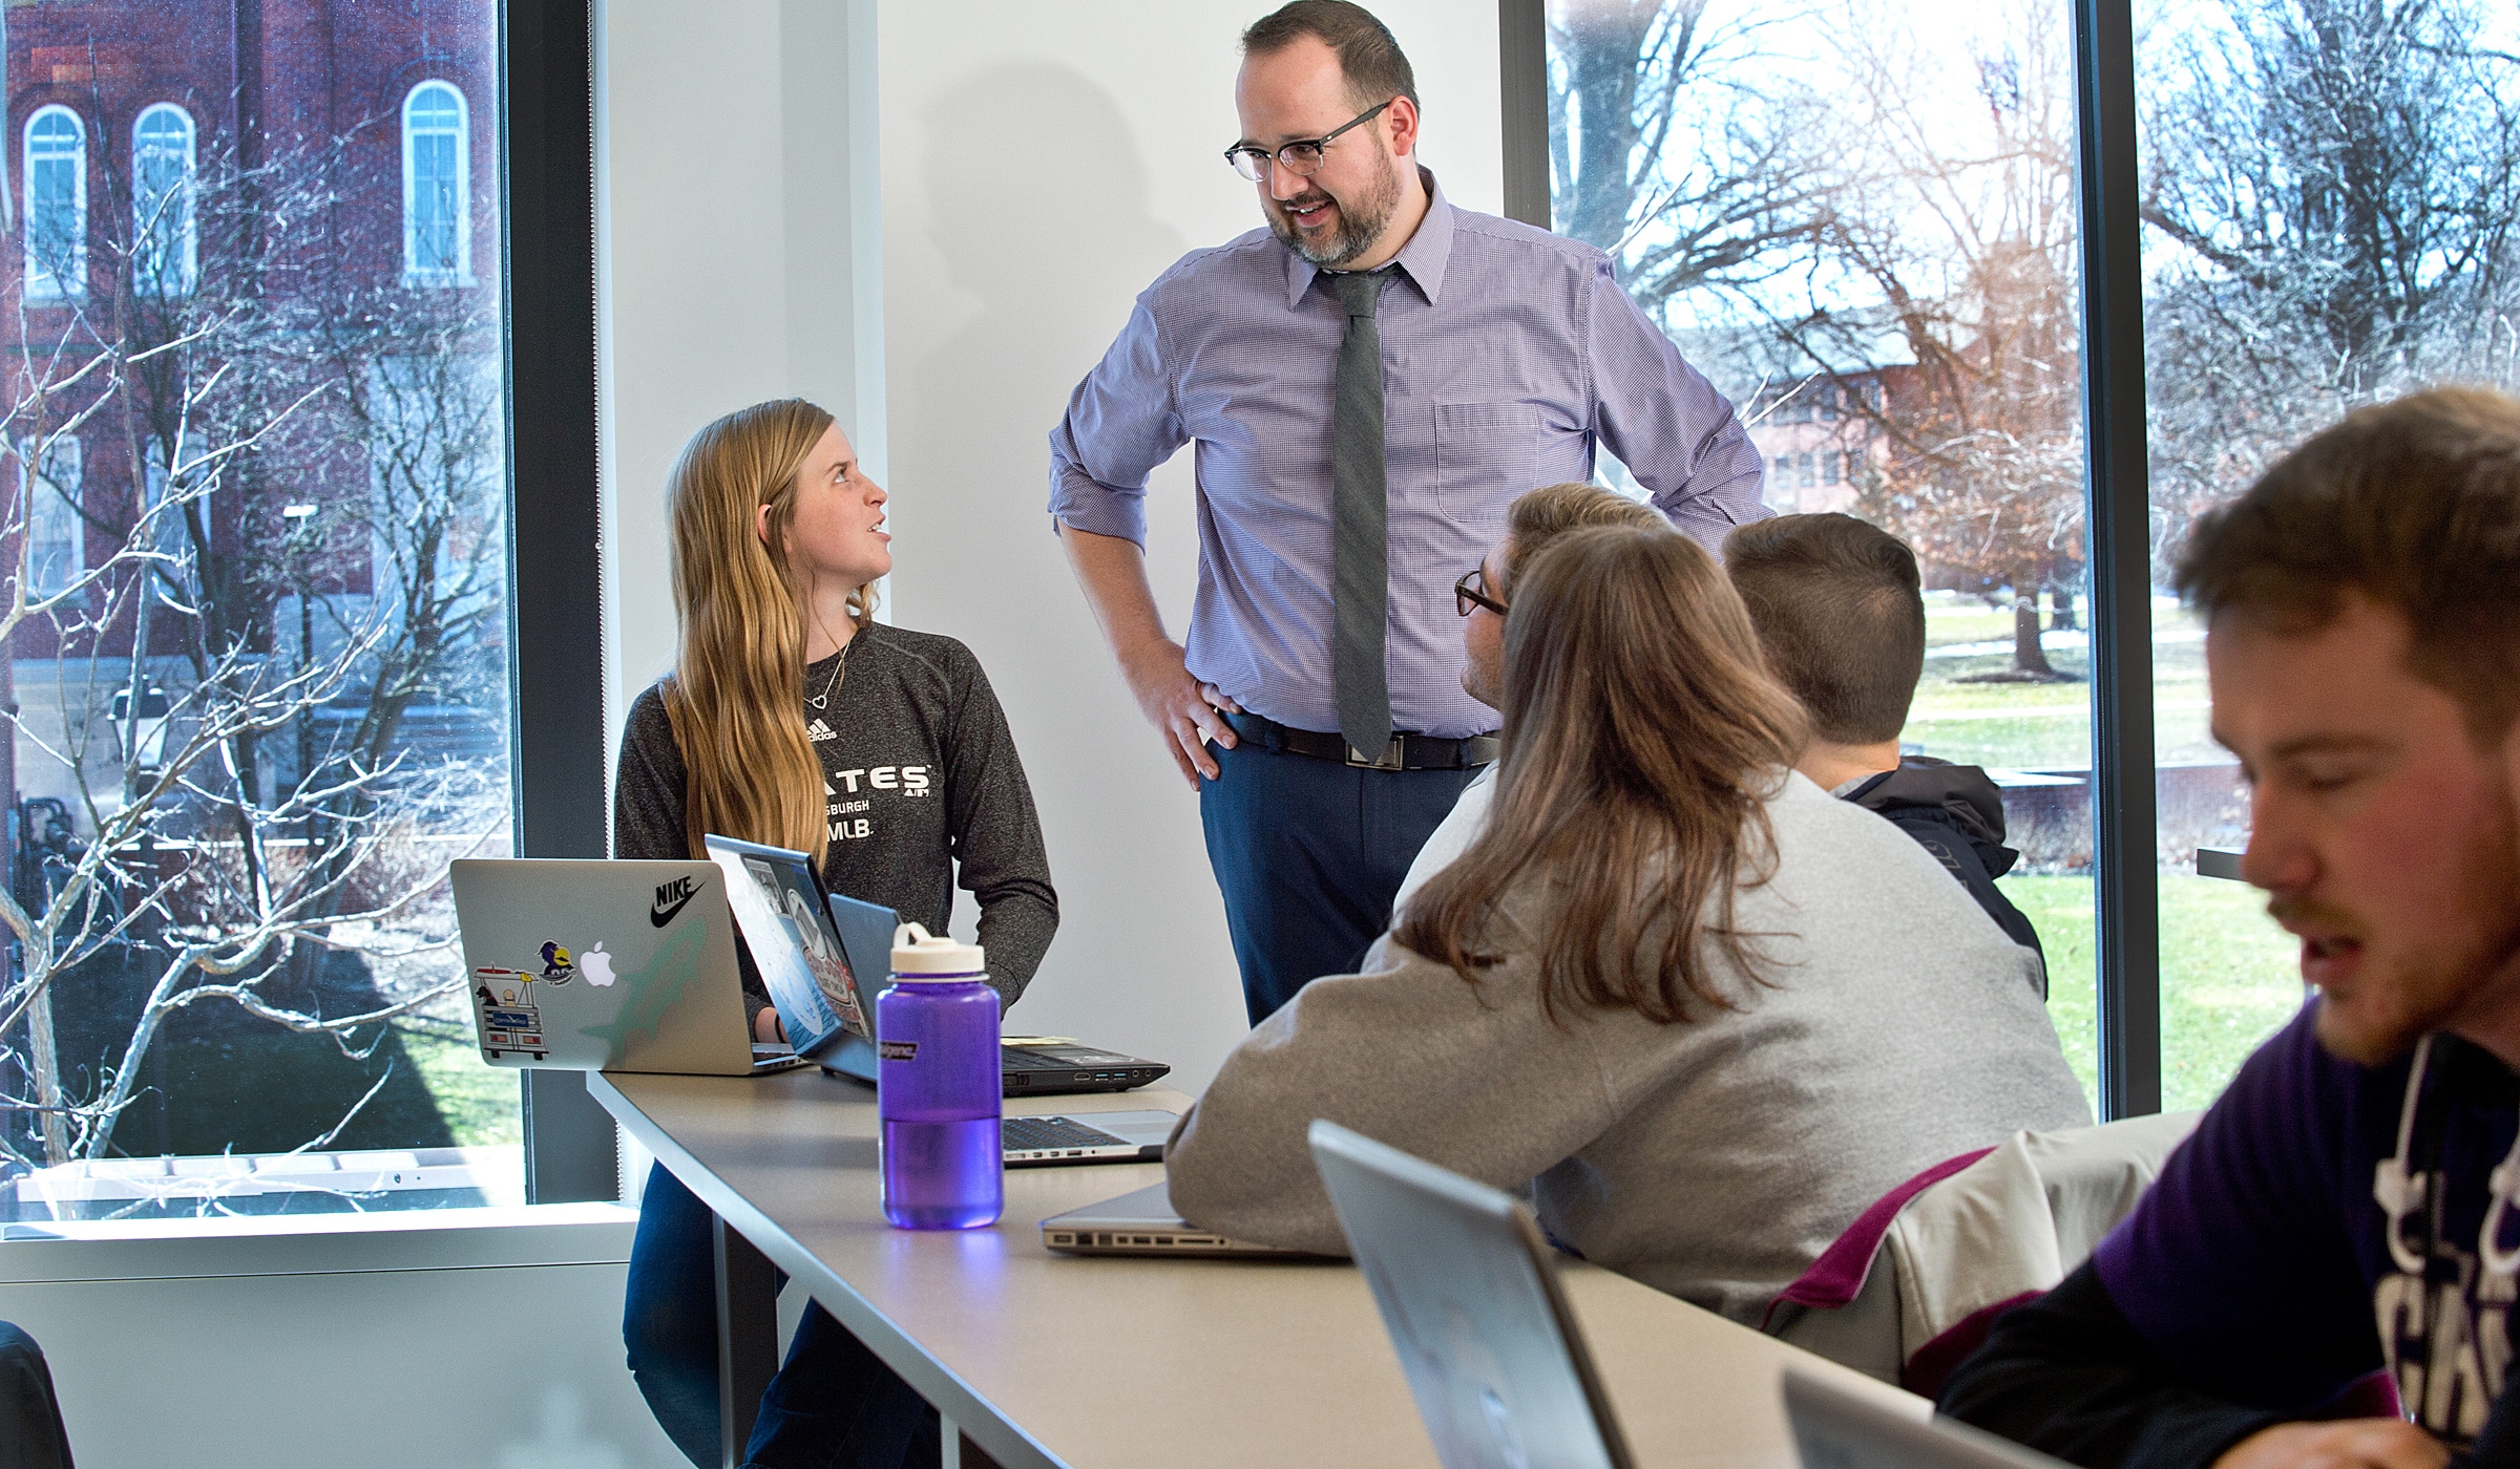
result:
<svg viewBox="0 0 2520 1469"><path fill-rule="evenodd" d="M1804 716L1661 527L1547 544L1504 617L1487 826L1363 973L1305 985L1174 1134L1172 1202L1343 1252L1305 1124L1499 1187L1598 1265L1756 1323L1872 1199L2089 1106L2029 950L1792 771Z"/></svg>

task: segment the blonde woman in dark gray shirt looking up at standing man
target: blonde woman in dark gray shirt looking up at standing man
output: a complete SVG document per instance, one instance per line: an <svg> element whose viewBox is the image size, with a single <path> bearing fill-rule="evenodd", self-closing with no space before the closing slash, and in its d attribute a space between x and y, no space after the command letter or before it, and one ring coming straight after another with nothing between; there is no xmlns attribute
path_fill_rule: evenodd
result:
<svg viewBox="0 0 2520 1469"><path fill-rule="evenodd" d="M673 675L630 706L615 857L706 857L711 832L811 852L832 892L945 932L955 869L1008 1005L1058 897L998 695L953 637L874 620L885 489L822 408L786 398L693 433L668 481ZM776 1038L751 963L753 1036ZM648 1174L622 1338L665 1434L718 1461L711 1217ZM761 1396L746 1464L935 1461L935 1414L822 1308Z"/></svg>

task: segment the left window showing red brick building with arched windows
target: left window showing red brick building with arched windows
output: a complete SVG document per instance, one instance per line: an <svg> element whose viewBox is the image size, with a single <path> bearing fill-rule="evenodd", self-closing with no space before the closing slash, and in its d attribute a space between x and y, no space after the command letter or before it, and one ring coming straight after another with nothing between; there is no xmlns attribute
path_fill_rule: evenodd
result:
<svg viewBox="0 0 2520 1469"><path fill-rule="evenodd" d="M499 13L262 5L287 108L186 8L10 15L15 53L136 63L25 123L28 295L93 265L113 310L0 323L5 443L53 441L13 569L86 577L0 605L0 1225L524 1197L446 892L514 844L504 302L413 290L494 229L464 96Z"/></svg>

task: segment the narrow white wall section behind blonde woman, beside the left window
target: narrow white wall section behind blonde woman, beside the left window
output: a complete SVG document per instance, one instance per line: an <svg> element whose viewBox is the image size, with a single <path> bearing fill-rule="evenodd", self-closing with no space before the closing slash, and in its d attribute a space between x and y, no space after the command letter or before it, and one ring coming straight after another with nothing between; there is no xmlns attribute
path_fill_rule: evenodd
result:
<svg viewBox="0 0 2520 1469"><path fill-rule="evenodd" d="M852 252L874 219L849 199L852 146L867 154L854 174L872 176L874 88L852 86L852 0L597 0L595 15L605 738L617 741L630 700L673 665L673 456L721 413L799 396L837 413L882 471L882 323L854 300L872 305L874 287L872 247ZM872 68L872 50L857 58ZM867 113L857 144L852 106ZM862 189L872 199L872 179Z"/></svg>

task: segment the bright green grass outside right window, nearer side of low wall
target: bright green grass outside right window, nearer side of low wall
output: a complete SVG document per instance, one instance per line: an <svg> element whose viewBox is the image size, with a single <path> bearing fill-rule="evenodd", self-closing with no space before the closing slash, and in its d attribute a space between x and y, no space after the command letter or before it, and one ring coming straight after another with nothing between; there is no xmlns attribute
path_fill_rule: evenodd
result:
<svg viewBox="0 0 2520 1469"><path fill-rule="evenodd" d="M2099 1101L2099 968L2089 877L2003 877L2049 957L2049 1015ZM2210 1104L2240 1061L2301 1010L2298 945L2253 887L2162 872L2162 1109Z"/></svg>

